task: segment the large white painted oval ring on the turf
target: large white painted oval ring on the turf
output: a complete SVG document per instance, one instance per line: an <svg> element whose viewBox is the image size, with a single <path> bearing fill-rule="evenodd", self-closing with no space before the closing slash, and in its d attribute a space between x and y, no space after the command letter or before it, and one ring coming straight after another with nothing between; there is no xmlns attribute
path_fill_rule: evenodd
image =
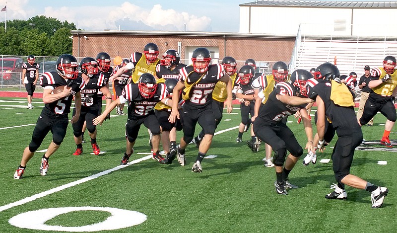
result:
<svg viewBox="0 0 397 233"><path fill-rule="evenodd" d="M103 222L80 227L50 226L45 224L45 222L57 217L58 215L66 214L73 211L87 210L105 211L111 213L112 215ZM110 207L81 206L48 208L28 211L12 217L8 220L8 222L18 228L33 230L62 232L97 232L132 227L145 222L146 219L147 216L145 214L137 211Z"/></svg>

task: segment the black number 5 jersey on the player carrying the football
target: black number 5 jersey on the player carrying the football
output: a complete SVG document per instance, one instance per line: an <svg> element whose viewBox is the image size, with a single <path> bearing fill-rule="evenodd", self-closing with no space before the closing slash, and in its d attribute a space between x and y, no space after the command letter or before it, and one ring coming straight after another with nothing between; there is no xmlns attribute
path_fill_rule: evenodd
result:
<svg viewBox="0 0 397 233"><path fill-rule="evenodd" d="M81 77L78 76L76 79L65 79L62 78L57 72L46 72L40 77L40 85L45 89L54 89L58 86L66 85L71 88L71 94L69 96L52 103L47 103L44 106L44 108L53 113L67 115L70 112L73 95L84 88L85 82Z"/></svg>

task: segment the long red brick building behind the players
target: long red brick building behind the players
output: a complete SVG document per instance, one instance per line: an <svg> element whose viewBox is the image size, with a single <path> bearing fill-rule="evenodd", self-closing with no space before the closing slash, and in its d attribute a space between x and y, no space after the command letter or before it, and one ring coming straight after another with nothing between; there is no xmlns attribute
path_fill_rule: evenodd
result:
<svg viewBox="0 0 397 233"><path fill-rule="evenodd" d="M225 32L179 32L179 31L71 31L73 55L95 57L107 52L112 58L129 58L132 52L142 52L143 47L155 43L160 54L168 49L180 52L181 60L189 64L193 50L206 47L213 59L232 56L243 62L289 61L295 43L295 36L264 35Z"/></svg>

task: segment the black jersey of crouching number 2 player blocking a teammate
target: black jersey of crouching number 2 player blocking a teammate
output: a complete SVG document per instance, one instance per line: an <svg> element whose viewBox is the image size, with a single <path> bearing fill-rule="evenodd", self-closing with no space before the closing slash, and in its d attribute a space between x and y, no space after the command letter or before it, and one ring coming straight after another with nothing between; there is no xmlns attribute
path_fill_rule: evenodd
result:
<svg viewBox="0 0 397 233"><path fill-rule="evenodd" d="M275 124L280 122L283 118L295 114L307 105L291 106L289 104L285 104L276 98L277 94L297 96L291 83L278 82L275 89L270 93L268 100L260 109L258 114L259 119L257 118L259 121Z"/></svg>

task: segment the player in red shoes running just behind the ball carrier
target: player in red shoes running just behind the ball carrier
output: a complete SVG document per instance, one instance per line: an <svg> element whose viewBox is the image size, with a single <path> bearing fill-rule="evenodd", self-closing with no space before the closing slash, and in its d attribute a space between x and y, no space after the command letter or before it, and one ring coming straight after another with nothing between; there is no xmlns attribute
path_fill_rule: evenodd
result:
<svg viewBox="0 0 397 233"><path fill-rule="evenodd" d="M99 155L100 150L96 143L97 129L92 124L92 120L98 116L98 92L101 91L106 96L106 106L112 102L112 94L106 87L106 81L103 76L98 75L98 64L91 57L83 58L79 65L79 76L84 79L85 86L80 90L81 93L81 110L78 121L73 123L74 142L76 143L76 151L73 155L81 155L83 153L81 131L86 122L88 134L91 138L91 147L94 155ZM102 102L101 102L102 104ZM75 110L73 110L73 115Z"/></svg>

